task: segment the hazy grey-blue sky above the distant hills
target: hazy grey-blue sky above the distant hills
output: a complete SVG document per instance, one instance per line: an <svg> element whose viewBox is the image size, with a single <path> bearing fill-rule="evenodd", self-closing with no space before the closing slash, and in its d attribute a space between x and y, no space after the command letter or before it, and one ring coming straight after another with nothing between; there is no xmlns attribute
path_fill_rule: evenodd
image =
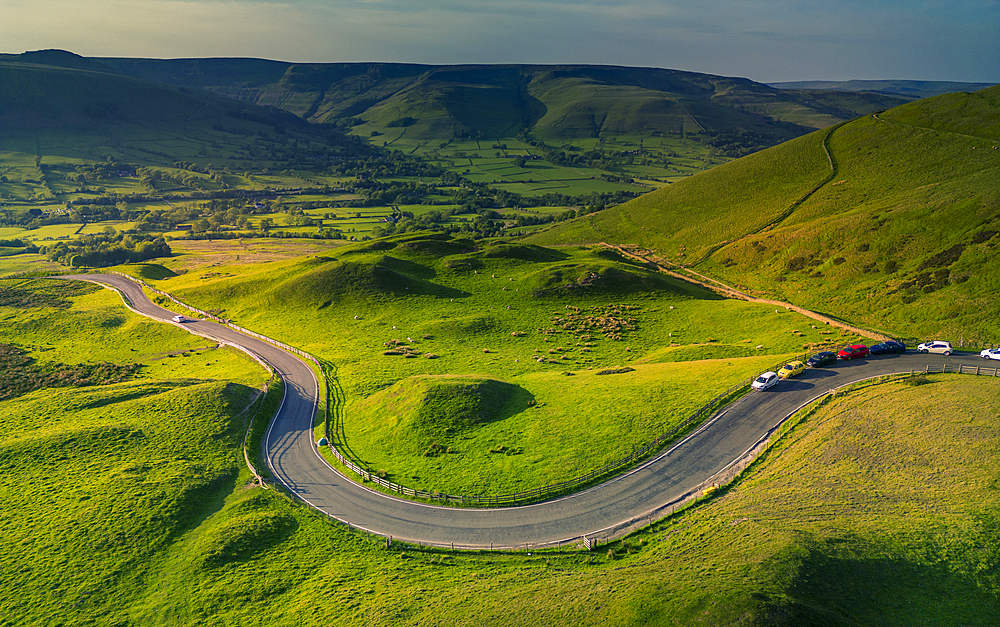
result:
<svg viewBox="0 0 1000 627"><path fill-rule="evenodd" d="M0 0L0 52L1000 83L1000 0Z"/></svg>

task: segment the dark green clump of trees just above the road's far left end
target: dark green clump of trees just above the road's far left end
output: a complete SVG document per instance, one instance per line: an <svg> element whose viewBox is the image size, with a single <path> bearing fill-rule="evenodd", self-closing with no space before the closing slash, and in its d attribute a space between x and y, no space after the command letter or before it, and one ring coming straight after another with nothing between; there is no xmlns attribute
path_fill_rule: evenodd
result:
<svg viewBox="0 0 1000 627"><path fill-rule="evenodd" d="M170 246L162 237L121 233L112 227L101 234L84 235L43 247L39 252L51 261L73 268L104 268L169 257L171 254Z"/></svg>

